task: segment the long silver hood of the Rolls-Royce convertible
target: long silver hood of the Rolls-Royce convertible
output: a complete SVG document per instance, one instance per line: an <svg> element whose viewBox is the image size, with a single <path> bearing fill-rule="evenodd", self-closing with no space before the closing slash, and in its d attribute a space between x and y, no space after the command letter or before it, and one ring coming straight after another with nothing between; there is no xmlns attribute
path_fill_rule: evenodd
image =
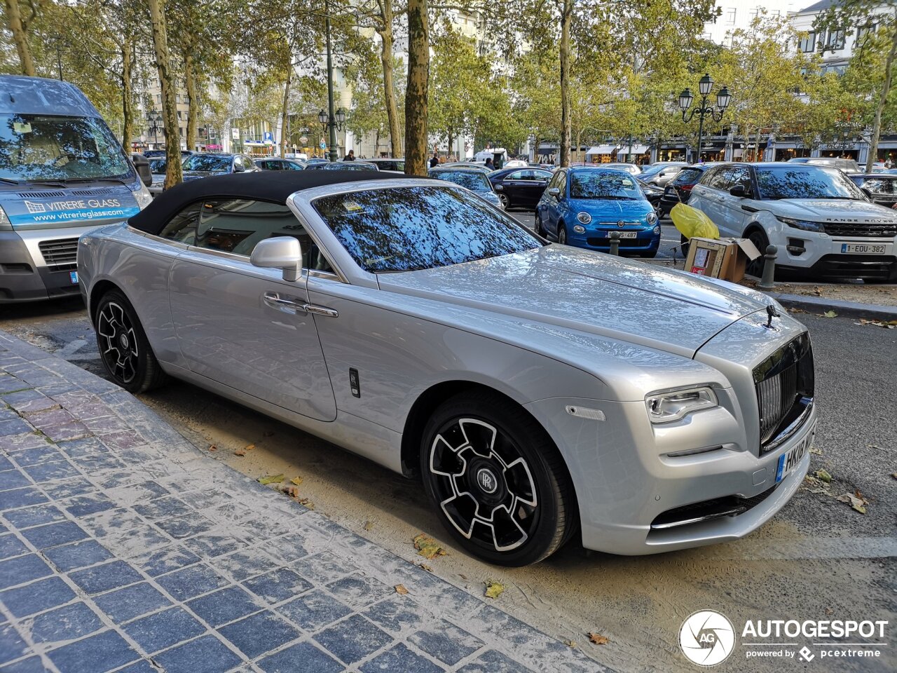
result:
<svg viewBox="0 0 897 673"><path fill-rule="evenodd" d="M378 278L389 292L687 357L771 303L735 284L560 245Z"/></svg>

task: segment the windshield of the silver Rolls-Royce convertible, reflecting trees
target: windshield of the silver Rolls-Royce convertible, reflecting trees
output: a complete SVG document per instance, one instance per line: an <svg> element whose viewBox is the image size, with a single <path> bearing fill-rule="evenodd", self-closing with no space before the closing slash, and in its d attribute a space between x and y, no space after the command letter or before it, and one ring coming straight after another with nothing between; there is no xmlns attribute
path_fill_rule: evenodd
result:
<svg viewBox="0 0 897 673"><path fill-rule="evenodd" d="M516 221L453 188L370 189L313 202L356 264L371 273L447 267L539 248Z"/></svg>

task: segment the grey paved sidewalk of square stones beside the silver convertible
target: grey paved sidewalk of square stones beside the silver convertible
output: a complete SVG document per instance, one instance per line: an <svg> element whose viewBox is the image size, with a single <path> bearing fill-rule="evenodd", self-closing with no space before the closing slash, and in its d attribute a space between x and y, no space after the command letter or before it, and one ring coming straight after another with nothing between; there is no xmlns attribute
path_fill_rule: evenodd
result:
<svg viewBox="0 0 897 673"><path fill-rule="evenodd" d="M606 670L3 331L0 449L4 673Z"/></svg>

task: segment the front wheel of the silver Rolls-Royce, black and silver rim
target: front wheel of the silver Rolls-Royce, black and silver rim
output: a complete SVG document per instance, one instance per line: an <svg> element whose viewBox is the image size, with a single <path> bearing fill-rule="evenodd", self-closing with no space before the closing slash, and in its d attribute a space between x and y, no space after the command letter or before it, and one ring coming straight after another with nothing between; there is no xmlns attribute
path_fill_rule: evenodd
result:
<svg viewBox="0 0 897 673"><path fill-rule="evenodd" d="M535 564L572 533L576 505L561 454L541 425L488 391L448 399L421 447L423 486L448 533L492 564Z"/></svg>

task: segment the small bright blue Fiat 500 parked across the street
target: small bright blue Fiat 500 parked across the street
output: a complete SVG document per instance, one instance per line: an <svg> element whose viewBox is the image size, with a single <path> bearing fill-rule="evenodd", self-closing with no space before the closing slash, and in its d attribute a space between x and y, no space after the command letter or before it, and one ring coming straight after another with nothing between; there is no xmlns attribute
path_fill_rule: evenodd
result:
<svg viewBox="0 0 897 673"><path fill-rule="evenodd" d="M660 224L639 183L625 170L557 170L536 205L536 232L549 240L607 252L620 232L620 254L654 257Z"/></svg>

